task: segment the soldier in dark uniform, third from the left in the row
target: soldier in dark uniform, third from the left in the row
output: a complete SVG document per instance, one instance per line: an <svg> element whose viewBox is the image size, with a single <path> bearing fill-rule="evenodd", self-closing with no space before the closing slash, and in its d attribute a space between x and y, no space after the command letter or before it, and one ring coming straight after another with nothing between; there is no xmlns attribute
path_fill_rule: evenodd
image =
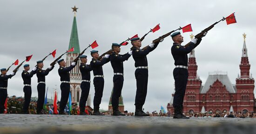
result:
<svg viewBox="0 0 256 134"><path fill-rule="evenodd" d="M37 62L37 70L36 70L36 76L37 76L37 91L38 91L38 100L37 100L37 107L36 111L37 114L44 114L42 112L44 99L45 99L45 76L49 74L50 71L53 70L54 66L49 66L46 70L42 70L44 67L43 61L36 61Z"/></svg>

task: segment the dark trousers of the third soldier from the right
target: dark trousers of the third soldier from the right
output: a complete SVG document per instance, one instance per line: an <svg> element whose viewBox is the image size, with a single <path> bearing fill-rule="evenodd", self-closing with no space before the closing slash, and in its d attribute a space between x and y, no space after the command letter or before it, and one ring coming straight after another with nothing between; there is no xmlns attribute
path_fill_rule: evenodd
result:
<svg viewBox="0 0 256 134"><path fill-rule="evenodd" d="M121 91L123 88L123 76L122 75L114 75L113 77L114 87L113 94L111 97L112 107L118 107L119 97L121 96Z"/></svg>

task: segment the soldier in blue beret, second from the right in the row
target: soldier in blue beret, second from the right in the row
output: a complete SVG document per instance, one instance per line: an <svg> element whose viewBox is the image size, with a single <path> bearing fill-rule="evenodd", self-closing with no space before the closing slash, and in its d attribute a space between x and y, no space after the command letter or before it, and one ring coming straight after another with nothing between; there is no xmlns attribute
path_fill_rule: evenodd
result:
<svg viewBox="0 0 256 134"><path fill-rule="evenodd" d="M159 42L162 42L161 39ZM132 50L133 59L135 61L135 78L136 78L136 97L135 97L135 116L149 116L142 110L142 106L145 103L148 89L148 60L147 55L153 51L158 43L151 43L146 49L141 48L140 38L135 37L131 39L131 43L134 47Z"/></svg>

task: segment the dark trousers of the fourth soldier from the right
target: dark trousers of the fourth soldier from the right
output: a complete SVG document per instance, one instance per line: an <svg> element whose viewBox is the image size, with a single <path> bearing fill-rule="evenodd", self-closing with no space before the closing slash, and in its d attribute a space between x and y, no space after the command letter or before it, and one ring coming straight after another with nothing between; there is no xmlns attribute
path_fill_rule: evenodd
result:
<svg viewBox="0 0 256 134"><path fill-rule="evenodd" d="M94 108L99 108L104 89L104 78L94 77Z"/></svg>

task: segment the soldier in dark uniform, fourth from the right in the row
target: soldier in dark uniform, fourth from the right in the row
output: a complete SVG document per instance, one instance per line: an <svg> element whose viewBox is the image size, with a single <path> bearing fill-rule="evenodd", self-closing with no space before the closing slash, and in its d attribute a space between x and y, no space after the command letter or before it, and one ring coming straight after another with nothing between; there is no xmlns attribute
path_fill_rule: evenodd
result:
<svg viewBox="0 0 256 134"><path fill-rule="evenodd" d="M110 61L109 55L105 55L101 60L97 50L91 51L92 61L90 65L94 72L94 112L93 115L104 115L100 113L101 97L104 89L104 76L102 66Z"/></svg>

